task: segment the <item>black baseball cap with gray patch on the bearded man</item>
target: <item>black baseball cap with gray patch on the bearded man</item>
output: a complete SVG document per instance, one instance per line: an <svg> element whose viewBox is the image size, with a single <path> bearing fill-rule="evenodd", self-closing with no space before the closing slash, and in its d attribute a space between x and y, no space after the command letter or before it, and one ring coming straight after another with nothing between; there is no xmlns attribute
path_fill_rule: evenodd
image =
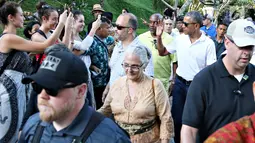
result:
<svg viewBox="0 0 255 143"><path fill-rule="evenodd" d="M22 79L23 84L35 82L47 89L58 90L67 83L80 85L88 82L85 63L69 51L50 52L37 73Z"/></svg>

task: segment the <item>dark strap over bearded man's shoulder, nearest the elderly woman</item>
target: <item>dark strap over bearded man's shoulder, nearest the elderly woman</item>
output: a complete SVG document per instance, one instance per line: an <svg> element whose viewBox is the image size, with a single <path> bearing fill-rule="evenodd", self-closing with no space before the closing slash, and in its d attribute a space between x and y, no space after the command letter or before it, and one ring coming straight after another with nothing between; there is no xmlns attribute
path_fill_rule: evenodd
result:
<svg viewBox="0 0 255 143"><path fill-rule="evenodd" d="M80 137L74 138L73 143L85 143L90 134L104 120L105 116L93 111L86 128L83 130Z"/></svg>

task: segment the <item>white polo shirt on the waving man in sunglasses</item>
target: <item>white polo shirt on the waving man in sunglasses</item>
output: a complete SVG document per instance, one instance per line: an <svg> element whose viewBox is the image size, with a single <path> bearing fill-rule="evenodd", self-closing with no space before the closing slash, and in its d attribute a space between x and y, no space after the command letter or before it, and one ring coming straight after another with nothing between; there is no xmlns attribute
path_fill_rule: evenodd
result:
<svg viewBox="0 0 255 143"><path fill-rule="evenodd" d="M169 53L177 52L176 73L187 81L193 80L200 70L216 61L215 45L204 34L194 43L188 35L180 35L166 49Z"/></svg>

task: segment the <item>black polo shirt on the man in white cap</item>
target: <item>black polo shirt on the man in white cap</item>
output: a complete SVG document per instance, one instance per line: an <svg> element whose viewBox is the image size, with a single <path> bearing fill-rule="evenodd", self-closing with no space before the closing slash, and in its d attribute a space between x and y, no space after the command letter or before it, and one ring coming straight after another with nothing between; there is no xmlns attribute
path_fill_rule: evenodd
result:
<svg viewBox="0 0 255 143"><path fill-rule="evenodd" d="M252 84L255 67L249 64L239 82L222 59L200 71L192 81L182 123L199 129L199 142L224 125L255 112Z"/></svg>

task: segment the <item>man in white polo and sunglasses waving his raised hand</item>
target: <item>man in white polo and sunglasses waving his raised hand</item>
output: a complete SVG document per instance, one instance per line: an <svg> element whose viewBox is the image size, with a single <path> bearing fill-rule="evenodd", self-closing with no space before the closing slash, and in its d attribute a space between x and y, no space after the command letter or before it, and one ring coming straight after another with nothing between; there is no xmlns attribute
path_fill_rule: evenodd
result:
<svg viewBox="0 0 255 143"><path fill-rule="evenodd" d="M177 53L178 67L172 89L172 116L175 128L175 143L180 142L182 113L189 85L194 76L206 66L216 61L216 51L213 41L202 34L202 15L197 11L188 12L183 19L184 34L176 37L173 42L162 44L163 24L157 26L157 48L159 55Z"/></svg>

